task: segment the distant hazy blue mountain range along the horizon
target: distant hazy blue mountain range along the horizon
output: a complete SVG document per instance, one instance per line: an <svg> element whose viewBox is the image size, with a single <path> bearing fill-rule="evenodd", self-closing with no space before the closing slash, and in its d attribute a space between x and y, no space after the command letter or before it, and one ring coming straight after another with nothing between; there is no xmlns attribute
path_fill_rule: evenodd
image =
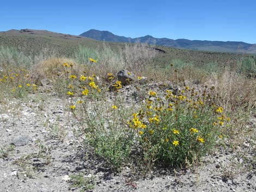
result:
<svg viewBox="0 0 256 192"><path fill-rule="evenodd" d="M214 52L230 52L230 53L256 53L256 44L247 44L241 41L202 41L188 39L168 39L154 38L151 35L142 36L139 38L126 38L118 36L106 30L90 29L88 32L82 33L80 36L95 39L99 41L109 42L141 42L167 47L193 49L198 51L214 51Z"/></svg>

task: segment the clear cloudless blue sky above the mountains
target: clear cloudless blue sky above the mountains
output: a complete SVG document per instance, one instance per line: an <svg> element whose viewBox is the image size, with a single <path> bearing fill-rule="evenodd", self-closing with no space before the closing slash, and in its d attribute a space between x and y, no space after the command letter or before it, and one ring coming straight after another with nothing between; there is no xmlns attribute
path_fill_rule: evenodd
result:
<svg viewBox="0 0 256 192"><path fill-rule="evenodd" d="M0 31L30 28L79 35L98 29L131 38L256 44L254 0L0 1Z"/></svg>

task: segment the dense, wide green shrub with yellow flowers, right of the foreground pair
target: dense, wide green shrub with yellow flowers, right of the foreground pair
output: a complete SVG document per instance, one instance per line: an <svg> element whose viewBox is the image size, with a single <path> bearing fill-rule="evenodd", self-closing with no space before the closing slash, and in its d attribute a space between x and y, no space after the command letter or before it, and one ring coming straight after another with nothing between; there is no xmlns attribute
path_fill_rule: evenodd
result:
<svg viewBox="0 0 256 192"><path fill-rule="evenodd" d="M180 166L203 156L214 146L229 117L214 105L205 88L200 95L188 87L149 97L127 122L137 133L145 165Z"/></svg>

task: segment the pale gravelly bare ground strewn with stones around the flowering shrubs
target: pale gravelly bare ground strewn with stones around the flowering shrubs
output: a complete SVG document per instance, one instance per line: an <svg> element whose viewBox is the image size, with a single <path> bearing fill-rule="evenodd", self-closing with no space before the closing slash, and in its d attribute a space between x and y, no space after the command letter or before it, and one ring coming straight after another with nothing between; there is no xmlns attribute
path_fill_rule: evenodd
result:
<svg viewBox="0 0 256 192"><path fill-rule="evenodd" d="M94 179L92 191L256 191L254 116L246 125L252 137L235 150L227 139L190 168L154 169L137 178L132 168L113 174L87 157L74 137L77 123L66 101L40 89L25 100L0 106L1 192L80 191L70 180L79 172ZM123 92L129 95L130 90Z"/></svg>

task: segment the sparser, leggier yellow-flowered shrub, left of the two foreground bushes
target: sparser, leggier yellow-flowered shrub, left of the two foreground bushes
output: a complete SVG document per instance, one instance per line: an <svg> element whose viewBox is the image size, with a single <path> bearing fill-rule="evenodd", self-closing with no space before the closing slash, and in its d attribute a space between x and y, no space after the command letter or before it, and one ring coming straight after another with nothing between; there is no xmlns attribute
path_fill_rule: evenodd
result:
<svg viewBox="0 0 256 192"><path fill-rule="evenodd" d="M121 98L114 95L113 102L108 103L108 90L97 85L95 76L70 75L67 82L66 95L72 98L70 110L86 136L84 143L92 146L94 153L112 170L118 170L130 155L133 138L122 123L127 109L117 104L121 103L118 101ZM120 88L120 82L115 82L113 89Z"/></svg>

